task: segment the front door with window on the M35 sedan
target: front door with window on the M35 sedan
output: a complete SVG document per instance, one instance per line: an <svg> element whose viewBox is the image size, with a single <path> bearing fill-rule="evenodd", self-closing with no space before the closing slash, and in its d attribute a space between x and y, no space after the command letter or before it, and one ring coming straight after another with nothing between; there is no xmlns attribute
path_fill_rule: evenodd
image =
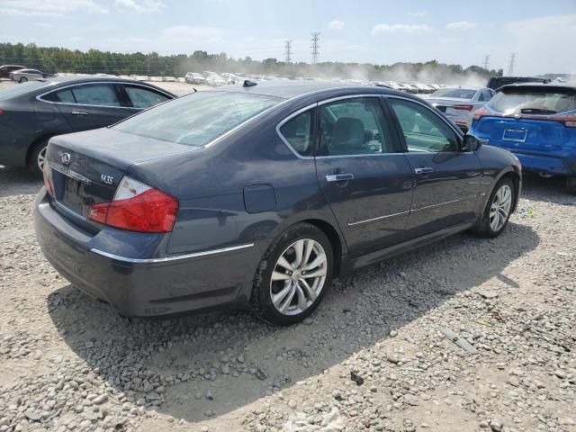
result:
<svg viewBox="0 0 576 432"><path fill-rule="evenodd" d="M386 98L416 182L407 230L419 237L475 220L482 166L460 135L427 106Z"/></svg>

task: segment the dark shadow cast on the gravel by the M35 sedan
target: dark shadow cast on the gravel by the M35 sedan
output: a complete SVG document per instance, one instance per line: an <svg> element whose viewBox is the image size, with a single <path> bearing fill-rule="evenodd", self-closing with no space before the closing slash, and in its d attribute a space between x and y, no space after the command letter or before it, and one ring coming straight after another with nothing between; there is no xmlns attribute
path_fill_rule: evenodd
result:
<svg viewBox="0 0 576 432"><path fill-rule="evenodd" d="M321 374L458 293L487 281L504 286L499 276L538 242L518 223L496 239L448 238L336 280L311 320L290 328L248 312L128 320L71 285L51 293L47 308L67 345L116 394L144 410L199 421L235 416L231 411ZM485 307L480 295L478 307Z"/></svg>

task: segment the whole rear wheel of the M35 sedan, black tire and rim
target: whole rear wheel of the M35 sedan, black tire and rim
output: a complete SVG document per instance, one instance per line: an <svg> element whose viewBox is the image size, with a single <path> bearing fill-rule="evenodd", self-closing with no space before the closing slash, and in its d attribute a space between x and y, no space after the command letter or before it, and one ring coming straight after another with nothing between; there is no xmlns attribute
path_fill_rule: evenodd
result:
<svg viewBox="0 0 576 432"><path fill-rule="evenodd" d="M286 229L268 247L252 288L252 309L277 326L308 317L332 282L334 253L324 232L309 223Z"/></svg>

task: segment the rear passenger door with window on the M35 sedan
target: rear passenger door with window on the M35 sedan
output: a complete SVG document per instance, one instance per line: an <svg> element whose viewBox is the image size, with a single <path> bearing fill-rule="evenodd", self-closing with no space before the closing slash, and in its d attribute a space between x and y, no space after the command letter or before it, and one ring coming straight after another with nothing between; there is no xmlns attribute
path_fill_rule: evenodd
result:
<svg viewBox="0 0 576 432"><path fill-rule="evenodd" d="M351 257L403 241L412 171L380 96L320 103L316 171Z"/></svg>

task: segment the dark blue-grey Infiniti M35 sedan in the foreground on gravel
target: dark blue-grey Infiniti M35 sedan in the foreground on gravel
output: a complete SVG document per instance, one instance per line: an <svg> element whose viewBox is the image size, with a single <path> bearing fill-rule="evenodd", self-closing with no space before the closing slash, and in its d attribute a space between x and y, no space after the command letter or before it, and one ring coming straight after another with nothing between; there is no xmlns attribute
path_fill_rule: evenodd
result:
<svg viewBox="0 0 576 432"><path fill-rule="evenodd" d="M289 325L332 277L464 230L494 238L521 166L381 87L199 92L49 140L49 262L126 316L252 308Z"/></svg>

